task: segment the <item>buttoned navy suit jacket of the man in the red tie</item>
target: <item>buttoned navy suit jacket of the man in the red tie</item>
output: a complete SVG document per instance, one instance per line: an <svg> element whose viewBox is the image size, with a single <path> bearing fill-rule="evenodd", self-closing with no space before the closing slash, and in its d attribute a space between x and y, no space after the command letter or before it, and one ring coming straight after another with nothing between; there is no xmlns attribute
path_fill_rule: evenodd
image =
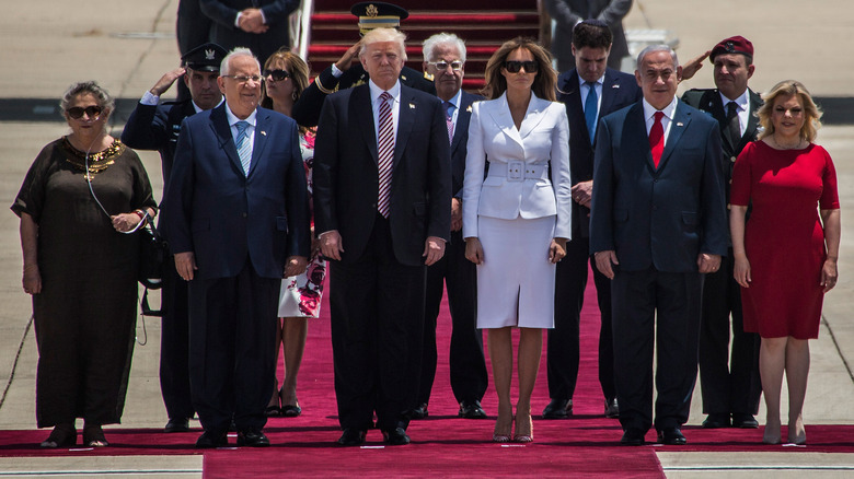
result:
<svg viewBox="0 0 854 479"><path fill-rule="evenodd" d="M679 102L658 168L643 102L599 122L590 253L613 249L624 271L697 271L726 255L728 225L717 121Z"/></svg>

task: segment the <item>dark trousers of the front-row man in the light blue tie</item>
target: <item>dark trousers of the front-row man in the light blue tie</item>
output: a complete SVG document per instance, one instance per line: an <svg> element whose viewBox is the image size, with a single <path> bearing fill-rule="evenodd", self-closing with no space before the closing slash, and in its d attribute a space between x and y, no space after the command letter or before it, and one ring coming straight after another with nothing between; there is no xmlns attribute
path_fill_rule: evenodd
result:
<svg viewBox="0 0 854 479"><path fill-rule="evenodd" d="M189 385L205 431L259 431L276 373L281 279L246 257L236 277L189 282Z"/></svg>

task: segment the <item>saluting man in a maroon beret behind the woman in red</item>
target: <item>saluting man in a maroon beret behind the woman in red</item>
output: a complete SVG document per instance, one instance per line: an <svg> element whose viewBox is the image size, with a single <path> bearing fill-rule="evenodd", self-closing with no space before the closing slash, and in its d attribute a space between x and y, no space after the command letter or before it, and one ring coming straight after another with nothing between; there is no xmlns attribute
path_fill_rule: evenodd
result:
<svg viewBox="0 0 854 479"><path fill-rule="evenodd" d="M754 113L762 98L748 89L753 75L753 44L742 36L720 40L712 49L717 89L689 90L686 104L708 113L720 127L724 151L724 179L727 203L732 166L741 150L757 138L759 119ZM700 385L703 428L759 428L762 382L759 377L759 335L745 332L741 316L741 288L732 276L732 247L720 269L707 274L703 285L703 319L700 329ZM730 353L729 317L732 315ZM731 355L730 355L731 354ZM731 421L731 422L730 422Z"/></svg>

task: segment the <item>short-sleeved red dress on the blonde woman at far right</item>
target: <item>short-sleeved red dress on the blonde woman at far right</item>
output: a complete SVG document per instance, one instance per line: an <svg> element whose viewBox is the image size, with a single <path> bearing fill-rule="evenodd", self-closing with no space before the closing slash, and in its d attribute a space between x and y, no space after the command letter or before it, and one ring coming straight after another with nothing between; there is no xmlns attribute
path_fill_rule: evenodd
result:
<svg viewBox="0 0 854 479"><path fill-rule="evenodd" d="M830 155L817 144L775 150L752 142L736 161L730 202L752 205L745 232L752 278L741 289L745 330L818 338L826 257L818 208L839 208Z"/></svg>

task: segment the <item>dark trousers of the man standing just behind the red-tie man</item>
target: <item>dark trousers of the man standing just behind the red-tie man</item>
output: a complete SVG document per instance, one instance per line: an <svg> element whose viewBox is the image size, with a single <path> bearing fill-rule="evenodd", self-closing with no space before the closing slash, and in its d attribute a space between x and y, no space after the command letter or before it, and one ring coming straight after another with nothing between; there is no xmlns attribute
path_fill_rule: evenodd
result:
<svg viewBox="0 0 854 479"><path fill-rule="evenodd" d="M554 329L549 329L546 372L549 397L572 399L578 379L579 329L587 288L588 259L593 266L593 283L601 313L599 327L599 384L605 399L616 397L614 388L614 343L611 335L611 280L596 268L589 255L590 240L574 238L566 244L566 257L555 272Z"/></svg>

